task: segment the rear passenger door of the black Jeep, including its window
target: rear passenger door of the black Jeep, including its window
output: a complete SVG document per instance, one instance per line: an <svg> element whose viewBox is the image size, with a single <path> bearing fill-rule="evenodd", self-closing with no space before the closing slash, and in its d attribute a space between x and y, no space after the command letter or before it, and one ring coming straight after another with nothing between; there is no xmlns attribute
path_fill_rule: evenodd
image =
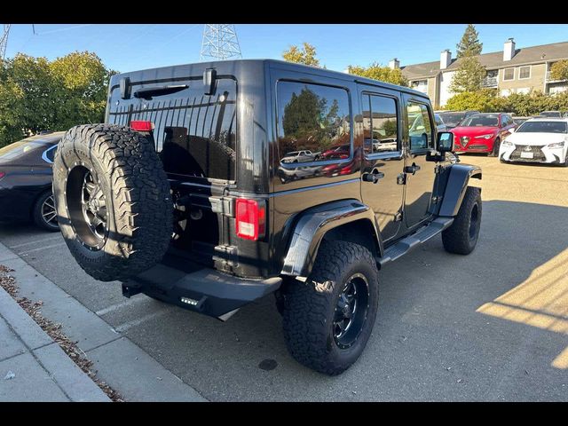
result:
<svg viewBox="0 0 568 426"><path fill-rule="evenodd" d="M402 218L404 185L397 179L404 166L400 99L395 91L359 93L363 112L361 198L375 211L384 242L397 235Z"/></svg>

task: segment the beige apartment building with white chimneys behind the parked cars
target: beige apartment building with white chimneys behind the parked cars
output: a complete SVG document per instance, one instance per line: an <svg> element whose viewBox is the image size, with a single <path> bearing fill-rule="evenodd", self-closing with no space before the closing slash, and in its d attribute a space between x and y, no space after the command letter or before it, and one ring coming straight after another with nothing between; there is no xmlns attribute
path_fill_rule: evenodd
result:
<svg viewBox="0 0 568 426"><path fill-rule="evenodd" d="M517 49L515 40L509 38L502 51L484 53L478 59L487 71L483 86L498 89L501 96L529 91L551 94L568 91L568 81L555 81L550 77L550 67L557 60L568 59L568 42ZM409 85L426 93L434 107L439 108L454 96L450 83L460 67L460 59L453 59L452 52L446 50L441 52L439 61L400 67L398 59L392 59L389 67L399 67Z"/></svg>

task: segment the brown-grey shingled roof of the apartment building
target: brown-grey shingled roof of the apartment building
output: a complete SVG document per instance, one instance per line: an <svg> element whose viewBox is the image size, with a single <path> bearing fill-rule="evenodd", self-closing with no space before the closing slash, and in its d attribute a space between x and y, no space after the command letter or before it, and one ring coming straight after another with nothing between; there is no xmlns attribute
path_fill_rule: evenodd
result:
<svg viewBox="0 0 568 426"><path fill-rule="evenodd" d="M503 60L503 51L483 53L477 57L481 65L487 69L506 68L524 64L544 63L550 60L568 59L568 42L540 44L539 46L516 49L511 60ZM460 66L460 59L452 59L452 63L444 71L455 71ZM408 79L433 77L440 72L439 60L422 64L400 67L402 74Z"/></svg>

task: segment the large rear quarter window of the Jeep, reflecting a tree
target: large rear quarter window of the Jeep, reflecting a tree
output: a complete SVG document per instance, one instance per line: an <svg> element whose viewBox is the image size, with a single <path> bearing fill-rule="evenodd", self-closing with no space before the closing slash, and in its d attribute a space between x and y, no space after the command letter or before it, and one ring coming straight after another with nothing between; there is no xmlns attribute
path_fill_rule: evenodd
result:
<svg viewBox="0 0 568 426"><path fill-rule="evenodd" d="M278 140L280 162L319 162L351 155L351 112L344 89L279 82ZM298 158L285 153L310 150Z"/></svg>

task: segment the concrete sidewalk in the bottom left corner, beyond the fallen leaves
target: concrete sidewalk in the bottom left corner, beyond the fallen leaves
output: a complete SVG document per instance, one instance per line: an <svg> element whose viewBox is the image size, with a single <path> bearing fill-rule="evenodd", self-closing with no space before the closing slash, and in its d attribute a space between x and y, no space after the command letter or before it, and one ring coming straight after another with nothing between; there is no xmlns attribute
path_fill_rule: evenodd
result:
<svg viewBox="0 0 568 426"><path fill-rule="evenodd" d="M0 288L0 401L110 401L4 288Z"/></svg>

